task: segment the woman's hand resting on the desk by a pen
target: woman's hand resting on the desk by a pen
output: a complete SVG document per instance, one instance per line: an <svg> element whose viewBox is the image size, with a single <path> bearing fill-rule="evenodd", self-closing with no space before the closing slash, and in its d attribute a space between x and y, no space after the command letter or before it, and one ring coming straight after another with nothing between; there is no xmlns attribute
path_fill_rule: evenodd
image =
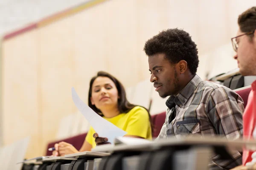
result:
<svg viewBox="0 0 256 170"><path fill-rule="evenodd" d="M60 142L54 145L55 150L52 152L53 156L64 156L72 153L79 153L72 144L67 142Z"/></svg>

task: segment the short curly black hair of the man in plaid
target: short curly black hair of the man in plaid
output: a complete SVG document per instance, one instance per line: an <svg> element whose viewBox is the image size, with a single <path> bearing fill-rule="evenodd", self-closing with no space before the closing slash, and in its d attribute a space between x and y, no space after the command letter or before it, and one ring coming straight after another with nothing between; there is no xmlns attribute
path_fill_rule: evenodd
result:
<svg viewBox="0 0 256 170"><path fill-rule="evenodd" d="M171 63L185 60L191 74L195 75L199 59L198 49L189 33L182 29L173 28L161 31L149 39L144 46L145 53L150 57L154 54L166 54Z"/></svg>

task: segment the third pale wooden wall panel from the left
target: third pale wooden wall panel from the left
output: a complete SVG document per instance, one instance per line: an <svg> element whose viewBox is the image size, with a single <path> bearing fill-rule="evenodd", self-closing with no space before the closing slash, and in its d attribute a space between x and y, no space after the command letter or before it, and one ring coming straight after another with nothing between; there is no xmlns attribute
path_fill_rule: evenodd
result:
<svg viewBox="0 0 256 170"><path fill-rule="evenodd" d="M108 71L106 49L111 43L106 40L104 4L82 11L72 20L75 42L73 86L85 103L88 101L90 79L96 75L97 71ZM72 105L74 113L77 108L73 103Z"/></svg>

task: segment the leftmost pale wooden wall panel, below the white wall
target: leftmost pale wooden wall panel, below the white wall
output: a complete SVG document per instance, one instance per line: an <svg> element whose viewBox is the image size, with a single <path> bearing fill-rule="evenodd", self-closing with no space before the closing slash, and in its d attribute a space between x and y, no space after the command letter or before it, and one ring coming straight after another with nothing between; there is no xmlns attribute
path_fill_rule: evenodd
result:
<svg viewBox="0 0 256 170"><path fill-rule="evenodd" d="M32 136L26 156L40 155L36 31L3 41L3 144Z"/></svg>

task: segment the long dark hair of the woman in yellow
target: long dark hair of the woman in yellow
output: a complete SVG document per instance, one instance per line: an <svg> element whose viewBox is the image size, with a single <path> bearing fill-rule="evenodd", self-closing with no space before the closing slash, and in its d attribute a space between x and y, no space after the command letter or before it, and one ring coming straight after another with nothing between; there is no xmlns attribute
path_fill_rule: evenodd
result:
<svg viewBox="0 0 256 170"><path fill-rule="evenodd" d="M101 111L96 108L95 105L92 104L90 98L92 96L92 85L93 85L93 82L95 81L95 79L97 77L108 77L109 79L111 79L114 84L116 85L116 89L118 91L118 96L119 96L119 99L117 100L117 105L118 105L118 110L120 113L128 113L129 111L131 111L131 109L133 109L135 106L137 105L133 105L131 104L127 98L126 98L126 92L125 92L125 88L124 86L122 85L121 82L119 82L118 79L116 79L116 77L113 77L111 74L105 72L105 71L99 71L97 73L96 76L94 76L91 80L90 80L90 88L89 88L89 95L88 95L88 105L91 109L93 109L93 111L95 111L96 113L98 113L100 116L103 116ZM140 106L140 107L143 107L143 106ZM143 107L144 108L144 107ZM145 108L146 111L148 112L148 116L149 116L149 121L150 121L150 124L151 124L151 132L153 133L153 130L154 130L154 127L153 127L153 124L152 124L152 119L151 119L151 115L148 111L147 108Z"/></svg>

